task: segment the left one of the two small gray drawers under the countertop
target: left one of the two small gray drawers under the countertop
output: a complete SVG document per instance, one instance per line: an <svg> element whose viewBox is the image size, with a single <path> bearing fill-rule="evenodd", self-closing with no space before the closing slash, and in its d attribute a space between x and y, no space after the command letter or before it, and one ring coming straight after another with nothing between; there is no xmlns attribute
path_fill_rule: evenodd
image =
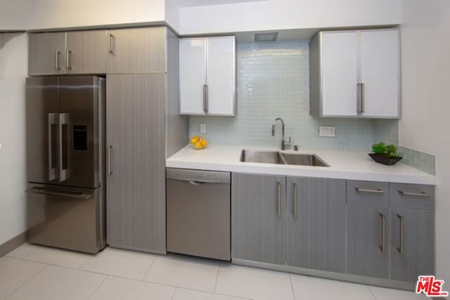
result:
<svg viewBox="0 0 450 300"><path fill-rule="evenodd" d="M389 184L372 181L347 181L347 203L388 206Z"/></svg>

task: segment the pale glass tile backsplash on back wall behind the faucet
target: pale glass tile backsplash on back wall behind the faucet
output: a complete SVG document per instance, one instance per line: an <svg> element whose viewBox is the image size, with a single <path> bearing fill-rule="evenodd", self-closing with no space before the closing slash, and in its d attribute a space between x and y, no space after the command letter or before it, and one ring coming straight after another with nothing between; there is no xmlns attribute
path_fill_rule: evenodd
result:
<svg viewBox="0 0 450 300"><path fill-rule="evenodd" d="M377 141L398 143L398 121L319 118L309 115L308 41L238 43L236 117L189 117L191 136L201 134L217 145L279 147L285 122L293 145L312 150L370 151ZM200 124L207 133L200 133ZM334 138L319 136L319 126L335 126Z"/></svg>

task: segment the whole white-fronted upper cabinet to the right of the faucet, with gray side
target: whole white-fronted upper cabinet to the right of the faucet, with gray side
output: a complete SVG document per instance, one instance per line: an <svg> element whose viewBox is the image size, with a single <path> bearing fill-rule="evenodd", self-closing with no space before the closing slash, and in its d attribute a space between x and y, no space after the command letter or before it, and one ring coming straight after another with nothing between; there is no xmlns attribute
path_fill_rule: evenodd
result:
<svg viewBox="0 0 450 300"><path fill-rule="evenodd" d="M311 115L400 117L399 30L319 32L309 50Z"/></svg>

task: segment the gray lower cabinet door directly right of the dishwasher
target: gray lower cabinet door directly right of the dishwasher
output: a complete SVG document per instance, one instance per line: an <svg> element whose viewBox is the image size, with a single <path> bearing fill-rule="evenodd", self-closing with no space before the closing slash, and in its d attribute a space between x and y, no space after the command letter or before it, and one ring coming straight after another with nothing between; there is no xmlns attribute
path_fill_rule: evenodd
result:
<svg viewBox="0 0 450 300"><path fill-rule="evenodd" d="M285 264L285 176L233 173L231 257Z"/></svg>

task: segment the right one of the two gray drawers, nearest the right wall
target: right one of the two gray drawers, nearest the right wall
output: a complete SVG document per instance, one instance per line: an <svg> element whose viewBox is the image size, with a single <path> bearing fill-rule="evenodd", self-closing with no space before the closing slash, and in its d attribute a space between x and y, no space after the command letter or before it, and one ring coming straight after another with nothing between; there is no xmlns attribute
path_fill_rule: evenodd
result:
<svg viewBox="0 0 450 300"><path fill-rule="evenodd" d="M411 209L435 207L435 186L406 183L390 183L390 206Z"/></svg>

